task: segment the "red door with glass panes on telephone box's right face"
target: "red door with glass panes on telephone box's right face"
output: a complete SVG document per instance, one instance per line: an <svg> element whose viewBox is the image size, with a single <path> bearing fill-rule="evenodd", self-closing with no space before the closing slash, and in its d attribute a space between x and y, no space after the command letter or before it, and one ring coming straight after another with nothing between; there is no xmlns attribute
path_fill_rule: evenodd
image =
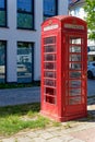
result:
<svg viewBox="0 0 95 142"><path fill-rule="evenodd" d="M66 115L76 115L86 107L86 49L85 36L66 34Z"/></svg>

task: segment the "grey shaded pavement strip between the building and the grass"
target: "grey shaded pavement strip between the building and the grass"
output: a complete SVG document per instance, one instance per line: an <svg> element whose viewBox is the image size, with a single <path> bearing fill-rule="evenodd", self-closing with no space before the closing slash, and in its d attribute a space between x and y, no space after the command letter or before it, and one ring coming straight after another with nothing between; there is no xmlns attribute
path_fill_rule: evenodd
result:
<svg viewBox="0 0 95 142"><path fill-rule="evenodd" d="M0 106L40 102L40 87L0 90Z"/></svg>

